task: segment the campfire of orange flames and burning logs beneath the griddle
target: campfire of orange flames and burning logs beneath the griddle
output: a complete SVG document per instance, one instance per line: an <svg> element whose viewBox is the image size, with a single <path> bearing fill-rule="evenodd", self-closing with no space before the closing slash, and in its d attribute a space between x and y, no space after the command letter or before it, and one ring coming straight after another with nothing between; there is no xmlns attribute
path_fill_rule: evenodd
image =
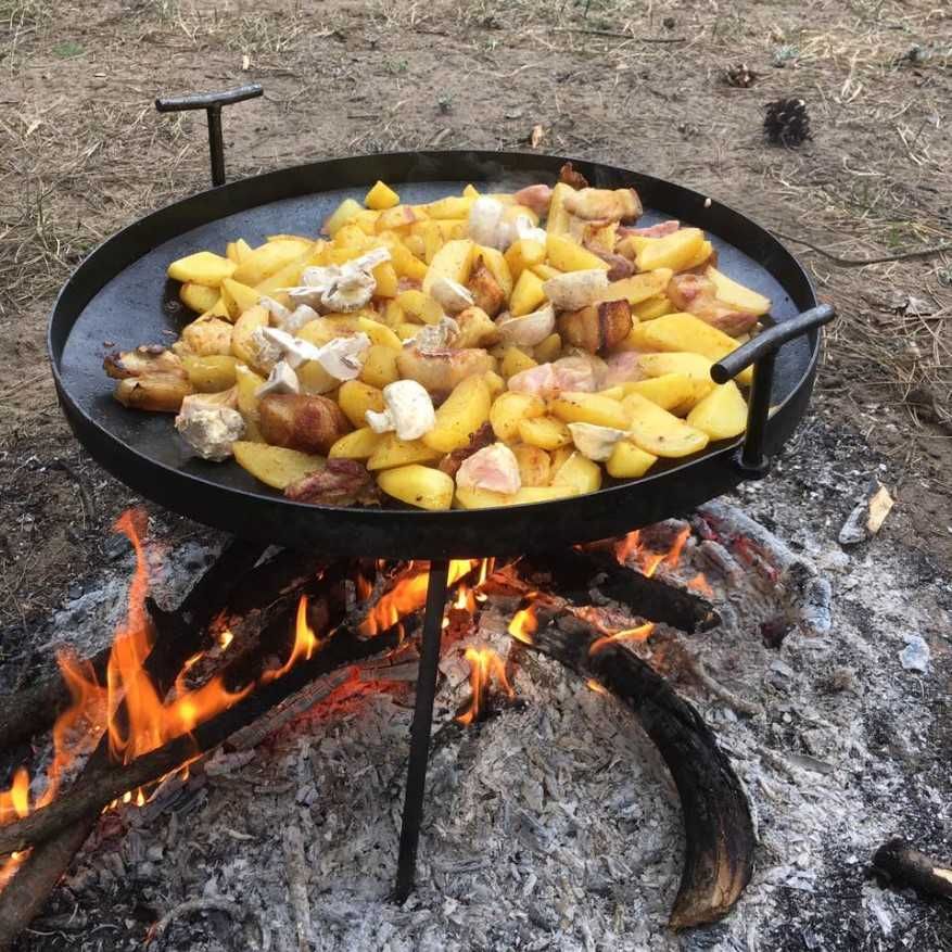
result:
<svg viewBox="0 0 952 952"><path fill-rule="evenodd" d="M135 571L112 645L89 659L61 653L59 676L9 698L0 721L5 747L35 744L0 795L0 924L9 921L4 906L33 914L42 904L101 814L161 801L214 752L253 749L334 694L417 675L424 562L268 558L236 542L166 612L150 597L144 516L125 512L115 530L132 547ZM709 599L745 572L789 588L780 615L764 619L771 638L825 623L824 580L720 504L691 522L669 520L620 540L447 568L442 651L469 670L456 729L518 703L512 674L526 652L541 652L618 698L658 746L688 839L674 928L724 915L751 873L740 785L713 735L659 673L686 672L741 712L756 708L719 685L684 639L722 622ZM486 627L500 618L503 625ZM10 938L0 934L0 945Z"/></svg>

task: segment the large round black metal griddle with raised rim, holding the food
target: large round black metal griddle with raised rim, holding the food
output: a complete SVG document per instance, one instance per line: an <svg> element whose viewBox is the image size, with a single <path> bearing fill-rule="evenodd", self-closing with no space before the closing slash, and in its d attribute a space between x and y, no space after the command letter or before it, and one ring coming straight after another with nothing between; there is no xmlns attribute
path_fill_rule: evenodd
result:
<svg viewBox="0 0 952 952"><path fill-rule="evenodd" d="M684 512L744 479L740 441L712 444L686 461L597 493L533 506L428 512L409 508L332 508L292 503L234 462L191 457L172 418L130 410L112 397L102 369L109 351L172 343L190 316L166 280L169 262L191 252L224 252L239 237L257 244L280 232L316 234L347 196L363 199L377 179L404 202L554 182L563 158L534 153L416 152L315 162L193 195L130 225L97 249L63 288L49 329L50 357L63 411L77 439L111 473L161 505L200 522L329 554L445 558L508 554L619 535ZM720 267L766 294L772 318L790 320L816 305L807 275L763 228L715 200L650 176L574 162L596 187L634 186L646 214L703 228ZM773 453L803 416L813 389L820 332L784 344L776 359L764 448ZM660 461L659 461L660 464Z"/></svg>

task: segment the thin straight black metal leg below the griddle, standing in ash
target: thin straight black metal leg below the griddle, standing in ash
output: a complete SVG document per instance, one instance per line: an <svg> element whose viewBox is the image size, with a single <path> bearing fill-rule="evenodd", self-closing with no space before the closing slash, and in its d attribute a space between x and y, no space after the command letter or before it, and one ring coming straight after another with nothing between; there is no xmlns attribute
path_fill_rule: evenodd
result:
<svg viewBox="0 0 952 952"><path fill-rule="evenodd" d="M427 762L430 759L430 728L433 724L433 699L436 695L436 665L440 661L440 636L443 631L443 609L446 606L446 585L449 563L445 560L430 563L427 588L427 613L423 617L423 650L417 677L417 702L410 727L410 765L407 770L407 789L404 797L404 818L399 833L399 858L396 864L394 898L404 902L414 889L417 873L417 845L423 818L423 792L427 787Z"/></svg>

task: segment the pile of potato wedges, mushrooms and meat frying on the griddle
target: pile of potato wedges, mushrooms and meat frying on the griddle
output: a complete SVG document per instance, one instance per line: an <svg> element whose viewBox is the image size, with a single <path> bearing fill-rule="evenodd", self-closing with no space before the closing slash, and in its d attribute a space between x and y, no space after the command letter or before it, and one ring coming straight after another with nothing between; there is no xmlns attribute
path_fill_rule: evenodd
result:
<svg viewBox="0 0 952 952"><path fill-rule="evenodd" d="M200 316L105 371L125 406L175 414L193 454L299 502L592 493L744 432L750 371L715 385L710 368L771 304L700 229L640 214L634 189L570 164L555 187L426 205L377 182L317 240L173 262Z"/></svg>

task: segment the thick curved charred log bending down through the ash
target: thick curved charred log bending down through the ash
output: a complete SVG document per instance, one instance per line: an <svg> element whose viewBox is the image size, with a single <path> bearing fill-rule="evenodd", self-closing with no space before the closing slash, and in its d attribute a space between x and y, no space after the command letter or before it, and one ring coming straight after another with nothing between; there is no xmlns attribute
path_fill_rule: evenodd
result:
<svg viewBox="0 0 952 952"><path fill-rule="evenodd" d="M722 918L753 871L750 808L731 762L697 711L652 668L618 644L593 652L596 642L604 640L599 633L575 619L571 627L570 633L548 624L523 640L626 705L657 745L677 787L685 856L671 928Z"/></svg>

